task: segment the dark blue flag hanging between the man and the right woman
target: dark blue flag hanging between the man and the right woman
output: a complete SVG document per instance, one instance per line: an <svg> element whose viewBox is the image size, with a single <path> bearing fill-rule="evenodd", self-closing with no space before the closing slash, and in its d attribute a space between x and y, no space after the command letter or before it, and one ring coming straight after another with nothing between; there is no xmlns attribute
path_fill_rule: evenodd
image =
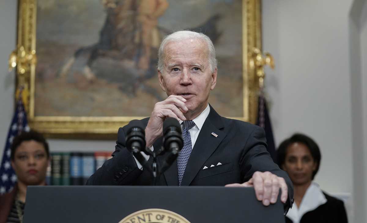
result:
<svg viewBox="0 0 367 223"><path fill-rule="evenodd" d="M263 91L261 91L260 93L258 105L259 106L258 106L258 116L256 125L263 127L265 129L266 142L268 143L267 150L270 153L270 156L273 158L273 161L277 163L272 124L270 122L269 111L266 106L266 100Z"/></svg>

